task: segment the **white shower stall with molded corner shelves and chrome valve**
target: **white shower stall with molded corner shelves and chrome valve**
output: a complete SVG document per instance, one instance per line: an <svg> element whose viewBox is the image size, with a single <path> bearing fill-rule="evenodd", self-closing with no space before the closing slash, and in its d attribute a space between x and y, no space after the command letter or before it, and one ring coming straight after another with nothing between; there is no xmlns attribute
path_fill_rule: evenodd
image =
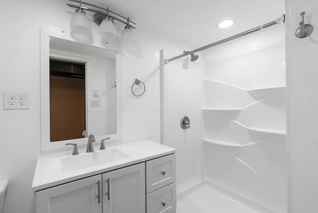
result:
<svg viewBox="0 0 318 213"><path fill-rule="evenodd" d="M162 141L177 149L177 213L287 213L282 19L180 56L161 51Z"/></svg>

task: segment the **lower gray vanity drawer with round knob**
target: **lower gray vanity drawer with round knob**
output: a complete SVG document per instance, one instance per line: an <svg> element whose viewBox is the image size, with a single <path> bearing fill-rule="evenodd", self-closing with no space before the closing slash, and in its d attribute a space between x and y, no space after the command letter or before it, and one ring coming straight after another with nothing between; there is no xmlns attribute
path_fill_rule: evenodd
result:
<svg viewBox="0 0 318 213"><path fill-rule="evenodd" d="M176 210L176 183L147 195L147 213L173 213Z"/></svg>

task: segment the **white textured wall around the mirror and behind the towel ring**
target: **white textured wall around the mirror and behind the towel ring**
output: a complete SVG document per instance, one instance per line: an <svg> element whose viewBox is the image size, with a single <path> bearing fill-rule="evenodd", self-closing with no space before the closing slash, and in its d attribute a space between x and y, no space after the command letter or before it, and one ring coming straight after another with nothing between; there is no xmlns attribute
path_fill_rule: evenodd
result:
<svg viewBox="0 0 318 213"><path fill-rule="evenodd" d="M7 1L2 6L1 26L5 30L0 39L0 179L9 179L4 212L31 213L31 184L40 154L40 27L70 33L74 10L64 0ZM22 17L12 16L12 9ZM91 25L93 38L99 39L97 25L92 21ZM134 52L122 52L123 85L117 85L124 92L123 139L160 142L159 50L182 52L183 47L140 28L135 32L140 46ZM146 94L138 99L130 91L136 78L147 87ZM30 109L4 111L3 90L30 91Z"/></svg>

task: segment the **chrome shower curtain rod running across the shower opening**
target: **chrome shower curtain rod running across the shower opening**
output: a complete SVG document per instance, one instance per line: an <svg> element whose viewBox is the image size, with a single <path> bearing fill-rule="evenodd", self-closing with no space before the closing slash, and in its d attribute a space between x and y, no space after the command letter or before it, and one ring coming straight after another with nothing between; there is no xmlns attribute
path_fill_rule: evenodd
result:
<svg viewBox="0 0 318 213"><path fill-rule="evenodd" d="M199 52L199 51L201 51L201 50L208 49L208 48L210 48L210 47L213 47L213 46L216 46L216 45L225 43L225 42L227 42L227 41L231 41L231 40L233 40L233 39L242 37L242 36L244 36L244 35L247 35L247 34L256 32L256 31L258 31L258 30L261 30L261 29L264 29L264 28L273 26L273 25L278 24L278 23L284 23L284 22L285 22L285 14L283 14L282 16L280 16L279 18L277 18L275 21L269 22L269 23L267 23L267 24L264 24L264 25L261 25L261 26L258 26L258 27L249 29L249 30L247 30L247 31L244 31L244 32L241 32L241 33L236 34L236 35L234 35L234 36L231 36L231 37L225 38L225 39L223 39L223 40L214 42L214 43L209 44L209 45L206 45L206 46L204 46L204 47L201 47L201 48L192 50L192 51L190 51L190 52L186 52L186 53L184 53L184 54L182 54L182 55L179 55L179 56L176 56L176 57L173 57L173 58L170 58L170 59L164 59L164 63L165 63L165 64L168 64L168 62L173 61L173 60L176 60L176 59L178 59L178 58L182 58L182 57L184 57L184 56L191 55L191 54L196 53L196 52Z"/></svg>

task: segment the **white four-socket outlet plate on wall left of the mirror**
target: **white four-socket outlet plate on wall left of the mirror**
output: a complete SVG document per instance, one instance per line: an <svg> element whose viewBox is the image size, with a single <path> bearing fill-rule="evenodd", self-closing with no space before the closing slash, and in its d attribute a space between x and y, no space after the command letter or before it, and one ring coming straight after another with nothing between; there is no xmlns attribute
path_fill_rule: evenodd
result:
<svg viewBox="0 0 318 213"><path fill-rule="evenodd" d="M28 91L3 91L3 109L29 109Z"/></svg>

